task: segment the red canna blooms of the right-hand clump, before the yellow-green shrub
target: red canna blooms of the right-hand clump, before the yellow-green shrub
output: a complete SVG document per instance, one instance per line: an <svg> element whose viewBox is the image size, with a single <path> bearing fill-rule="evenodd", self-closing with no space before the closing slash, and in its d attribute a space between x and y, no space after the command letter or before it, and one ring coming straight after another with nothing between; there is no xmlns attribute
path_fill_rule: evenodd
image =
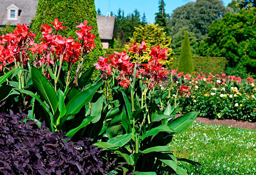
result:
<svg viewBox="0 0 256 175"><path fill-rule="evenodd" d="M131 85L131 80L133 79L132 75L135 75L136 78L143 79L143 83L147 83L150 88L154 87L154 84L161 83L163 77L167 77L166 69L162 67L162 63L160 63L161 60L167 59L167 48L161 49L159 45L153 46L149 53L151 57L150 60L147 64L141 64L139 63L140 57L147 48L145 40L143 40L139 46L134 42L130 47L128 51L132 51L133 54L138 54L136 63L130 62L129 55L127 55L126 51L114 51L114 55L111 55L109 58L99 57L98 62L94 63L94 66L96 66L96 69L101 70L102 76L106 77L111 75L113 69L117 70L118 76L116 79L124 88L129 88ZM112 75L114 75L114 73ZM154 84L152 82L154 82Z"/></svg>

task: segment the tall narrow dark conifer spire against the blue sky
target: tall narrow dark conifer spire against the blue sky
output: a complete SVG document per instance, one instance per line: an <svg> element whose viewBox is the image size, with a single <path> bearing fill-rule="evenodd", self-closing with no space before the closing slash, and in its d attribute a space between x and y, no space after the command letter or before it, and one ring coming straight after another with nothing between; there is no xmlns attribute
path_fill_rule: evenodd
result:
<svg viewBox="0 0 256 175"><path fill-rule="evenodd" d="M165 2L163 0L159 0L159 11L158 13L155 13L155 24L158 24L159 27L163 27L164 31L168 33L168 30L166 28L167 25L167 17L169 17L168 14L165 13Z"/></svg>

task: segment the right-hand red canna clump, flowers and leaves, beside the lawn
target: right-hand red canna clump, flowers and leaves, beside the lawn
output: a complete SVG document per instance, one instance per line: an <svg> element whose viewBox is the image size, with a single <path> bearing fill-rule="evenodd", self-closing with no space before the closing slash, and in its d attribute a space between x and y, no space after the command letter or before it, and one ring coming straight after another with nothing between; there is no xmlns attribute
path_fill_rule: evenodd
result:
<svg viewBox="0 0 256 175"><path fill-rule="evenodd" d="M185 161L195 165L191 160L176 158L169 143L173 135L184 132L194 121L199 112L191 112L175 118L177 105L162 104L169 92L154 98L154 86L161 83L166 70L159 63L166 60L167 48L153 46L148 64L141 64L140 57L146 51L145 41L141 45L134 42L128 51L137 55L137 62L130 62L125 51L114 52L110 58L100 57L95 63L101 70L103 79L110 84L113 98L120 103L111 109L105 123L107 139L95 143L99 148L111 150L120 163L126 162L129 172L136 175L156 175L170 172L179 175L187 174L177 165ZM172 88L171 88L172 89ZM189 87L181 85L180 92L189 97ZM112 115L117 113L117 115ZM115 156L113 156L115 157ZM118 160L113 160L117 161ZM123 169L113 173L122 173Z"/></svg>

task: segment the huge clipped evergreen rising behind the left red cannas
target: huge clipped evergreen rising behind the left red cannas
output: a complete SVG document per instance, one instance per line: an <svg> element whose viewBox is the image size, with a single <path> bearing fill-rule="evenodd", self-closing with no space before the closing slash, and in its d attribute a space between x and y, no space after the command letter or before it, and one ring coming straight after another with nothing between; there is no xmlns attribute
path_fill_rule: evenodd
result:
<svg viewBox="0 0 256 175"><path fill-rule="evenodd" d="M31 30L37 34L37 40L41 38L41 24L48 24L57 17L67 30L60 31L63 36L71 36L75 40L78 36L75 34L75 27L84 20L87 20L89 26L93 26L92 33L97 37L94 39L96 47L84 59L84 70L93 66L98 61L98 57L103 55L101 40L99 38L96 11L94 0L39 0L37 13Z"/></svg>

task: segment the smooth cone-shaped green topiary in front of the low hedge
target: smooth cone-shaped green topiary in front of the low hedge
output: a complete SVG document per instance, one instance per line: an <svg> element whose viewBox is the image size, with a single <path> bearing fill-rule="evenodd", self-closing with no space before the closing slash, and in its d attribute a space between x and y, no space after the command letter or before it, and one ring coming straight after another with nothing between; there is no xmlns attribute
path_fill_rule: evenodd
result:
<svg viewBox="0 0 256 175"><path fill-rule="evenodd" d="M185 37L181 45L181 53L178 61L178 71L184 72L184 74L191 74L194 71L194 63L187 32L185 33Z"/></svg>

